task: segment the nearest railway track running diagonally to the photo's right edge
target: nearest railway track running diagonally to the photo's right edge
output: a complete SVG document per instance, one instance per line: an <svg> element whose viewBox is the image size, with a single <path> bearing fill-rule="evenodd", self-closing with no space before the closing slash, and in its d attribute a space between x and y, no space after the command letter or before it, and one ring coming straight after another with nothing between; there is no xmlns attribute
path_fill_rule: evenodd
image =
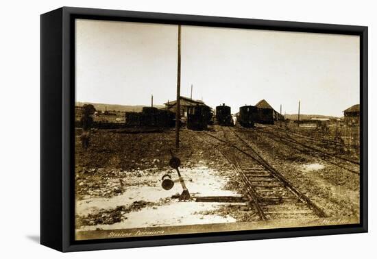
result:
<svg viewBox="0 0 377 259"><path fill-rule="evenodd" d="M247 132L252 132L251 130L246 130ZM297 151L300 151L301 153L310 154L311 156L316 156L317 158L320 158L321 160L324 160L332 165L335 165L336 167L339 167L341 169L344 169L346 171L349 171L350 173L354 174L360 174L359 171L354 168L355 165L358 167L360 165L360 162L350 160L348 158L343 158L341 156L337 156L336 154L329 153L328 151L323 151L317 147L312 147L311 145L306 145L305 143L301 143L298 140L295 140L295 138L292 138L289 136L288 132L282 132L281 134L278 133L278 130L276 132L269 132L265 130L254 130L254 132L258 132L260 134L264 134L267 138L270 138L273 141L278 141L282 143L283 145L287 145ZM353 167L353 168L352 168Z"/></svg>

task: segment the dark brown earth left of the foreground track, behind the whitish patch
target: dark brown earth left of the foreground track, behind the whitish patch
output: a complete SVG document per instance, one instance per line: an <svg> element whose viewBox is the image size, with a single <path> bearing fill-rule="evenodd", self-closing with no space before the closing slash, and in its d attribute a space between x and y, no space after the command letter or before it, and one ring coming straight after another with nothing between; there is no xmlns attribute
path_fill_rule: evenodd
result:
<svg viewBox="0 0 377 259"><path fill-rule="evenodd" d="M82 149L79 137L77 134L75 142L76 199L85 195L112 197L122 193L130 184L122 182L126 173L136 177L160 175L161 171L174 173L169 167L170 150L175 143L173 130L149 134L97 130L91 134L90 147L86 151ZM220 174L232 169L212 146L200 141L195 132L182 130L180 141L180 150L172 150L182 162L180 168L192 168L200 161L209 168L217 169ZM153 182L147 180L138 184Z"/></svg>

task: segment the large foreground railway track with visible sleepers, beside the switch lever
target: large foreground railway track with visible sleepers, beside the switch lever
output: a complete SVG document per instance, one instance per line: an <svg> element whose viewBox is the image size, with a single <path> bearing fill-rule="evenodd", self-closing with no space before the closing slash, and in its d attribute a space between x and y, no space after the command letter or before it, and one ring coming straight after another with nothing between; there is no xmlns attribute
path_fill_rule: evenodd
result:
<svg viewBox="0 0 377 259"><path fill-rule="evenodd" d="M327 217L230 127L221 127L221 137L208 132L197 134L232 164L260 220Z"/></svg>

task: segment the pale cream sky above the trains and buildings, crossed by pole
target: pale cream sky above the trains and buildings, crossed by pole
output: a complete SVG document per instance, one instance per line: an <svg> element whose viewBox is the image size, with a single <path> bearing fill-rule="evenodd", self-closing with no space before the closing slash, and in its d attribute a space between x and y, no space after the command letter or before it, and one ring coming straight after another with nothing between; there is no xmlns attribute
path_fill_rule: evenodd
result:
<svg viewBox="0 0 377 259"><path fill-rule="evenodd" d="M175 100L178 25L76 20L76 101ZM359 37L182 26L181 95L232 113L265 99L282 113L342 116L359 103Z"/></svg>

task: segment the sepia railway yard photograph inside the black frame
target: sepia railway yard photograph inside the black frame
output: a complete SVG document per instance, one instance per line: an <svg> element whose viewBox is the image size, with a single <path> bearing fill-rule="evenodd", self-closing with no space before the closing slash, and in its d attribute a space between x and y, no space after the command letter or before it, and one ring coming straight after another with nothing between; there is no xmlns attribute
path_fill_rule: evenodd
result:
<svg viewBox="0 0 377 259"><path fill-rule="evenodd" d="M360 223L360 36L74 26L75 240Z"/></svg>

